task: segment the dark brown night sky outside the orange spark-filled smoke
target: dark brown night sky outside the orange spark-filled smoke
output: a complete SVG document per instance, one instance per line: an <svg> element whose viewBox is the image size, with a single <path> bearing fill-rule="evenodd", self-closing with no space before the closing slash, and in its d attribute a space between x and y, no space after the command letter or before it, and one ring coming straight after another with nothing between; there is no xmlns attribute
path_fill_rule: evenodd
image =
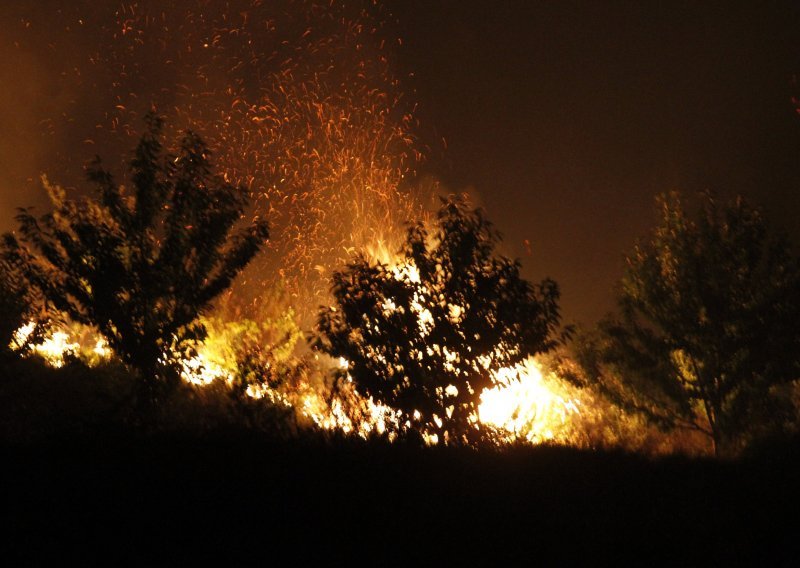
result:
<svg viewBox="0 0 800 568"><path fill-rule="evenodd" d="M0 23L10 29L26 2L3 4ZM660 192L742 193L800 240L797 5L390 7L403 38L397 73L430 147L420 173L469 190L525 274L561 284L567 320L592 323L613 308L622 255L652 226ZM50 155L85 150L68 133L35 135L43 118L74 108L76 96L96 102L49 79L81 46L52 61L10 45L15 30L0 46L0 132L12 134L0 142L4 230L14 207L39 200L31 180L42 171L60 178Z"/></svg>

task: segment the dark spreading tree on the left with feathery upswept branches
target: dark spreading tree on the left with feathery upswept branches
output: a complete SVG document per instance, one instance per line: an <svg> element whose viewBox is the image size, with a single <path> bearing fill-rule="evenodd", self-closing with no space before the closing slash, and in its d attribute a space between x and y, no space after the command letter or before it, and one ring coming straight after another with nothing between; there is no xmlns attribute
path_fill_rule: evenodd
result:
<svg viewBox="0 0 800 568"><path fill-rule="evenodd" d="M92 199L73 200L45 179L53 211L22 209L8 257L49 304L93 325L138 369L148 396L170 375L170 354L204 335L198 315L268 237L256 219L235 234L247 195L212 173L209 151L188 132L177 156L162 147L163 120L146 118L130 163L132 191L97 158Z"/></svg>

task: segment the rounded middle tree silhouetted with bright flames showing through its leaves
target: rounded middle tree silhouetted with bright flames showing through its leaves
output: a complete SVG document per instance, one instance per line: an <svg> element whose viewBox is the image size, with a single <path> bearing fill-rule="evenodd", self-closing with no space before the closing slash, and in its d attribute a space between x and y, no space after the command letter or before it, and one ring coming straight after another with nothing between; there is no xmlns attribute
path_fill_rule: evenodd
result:
<svg viewBox="0 0 800 568"><path fill-rule="evenodd" d="M341 358L356 390L440 442L470 443L493 372L555 345L558 286L533 286L494 254L481 210L443 200L435 235L408 230L395 265L357 256L333 275L314 346Z"/></svg>

